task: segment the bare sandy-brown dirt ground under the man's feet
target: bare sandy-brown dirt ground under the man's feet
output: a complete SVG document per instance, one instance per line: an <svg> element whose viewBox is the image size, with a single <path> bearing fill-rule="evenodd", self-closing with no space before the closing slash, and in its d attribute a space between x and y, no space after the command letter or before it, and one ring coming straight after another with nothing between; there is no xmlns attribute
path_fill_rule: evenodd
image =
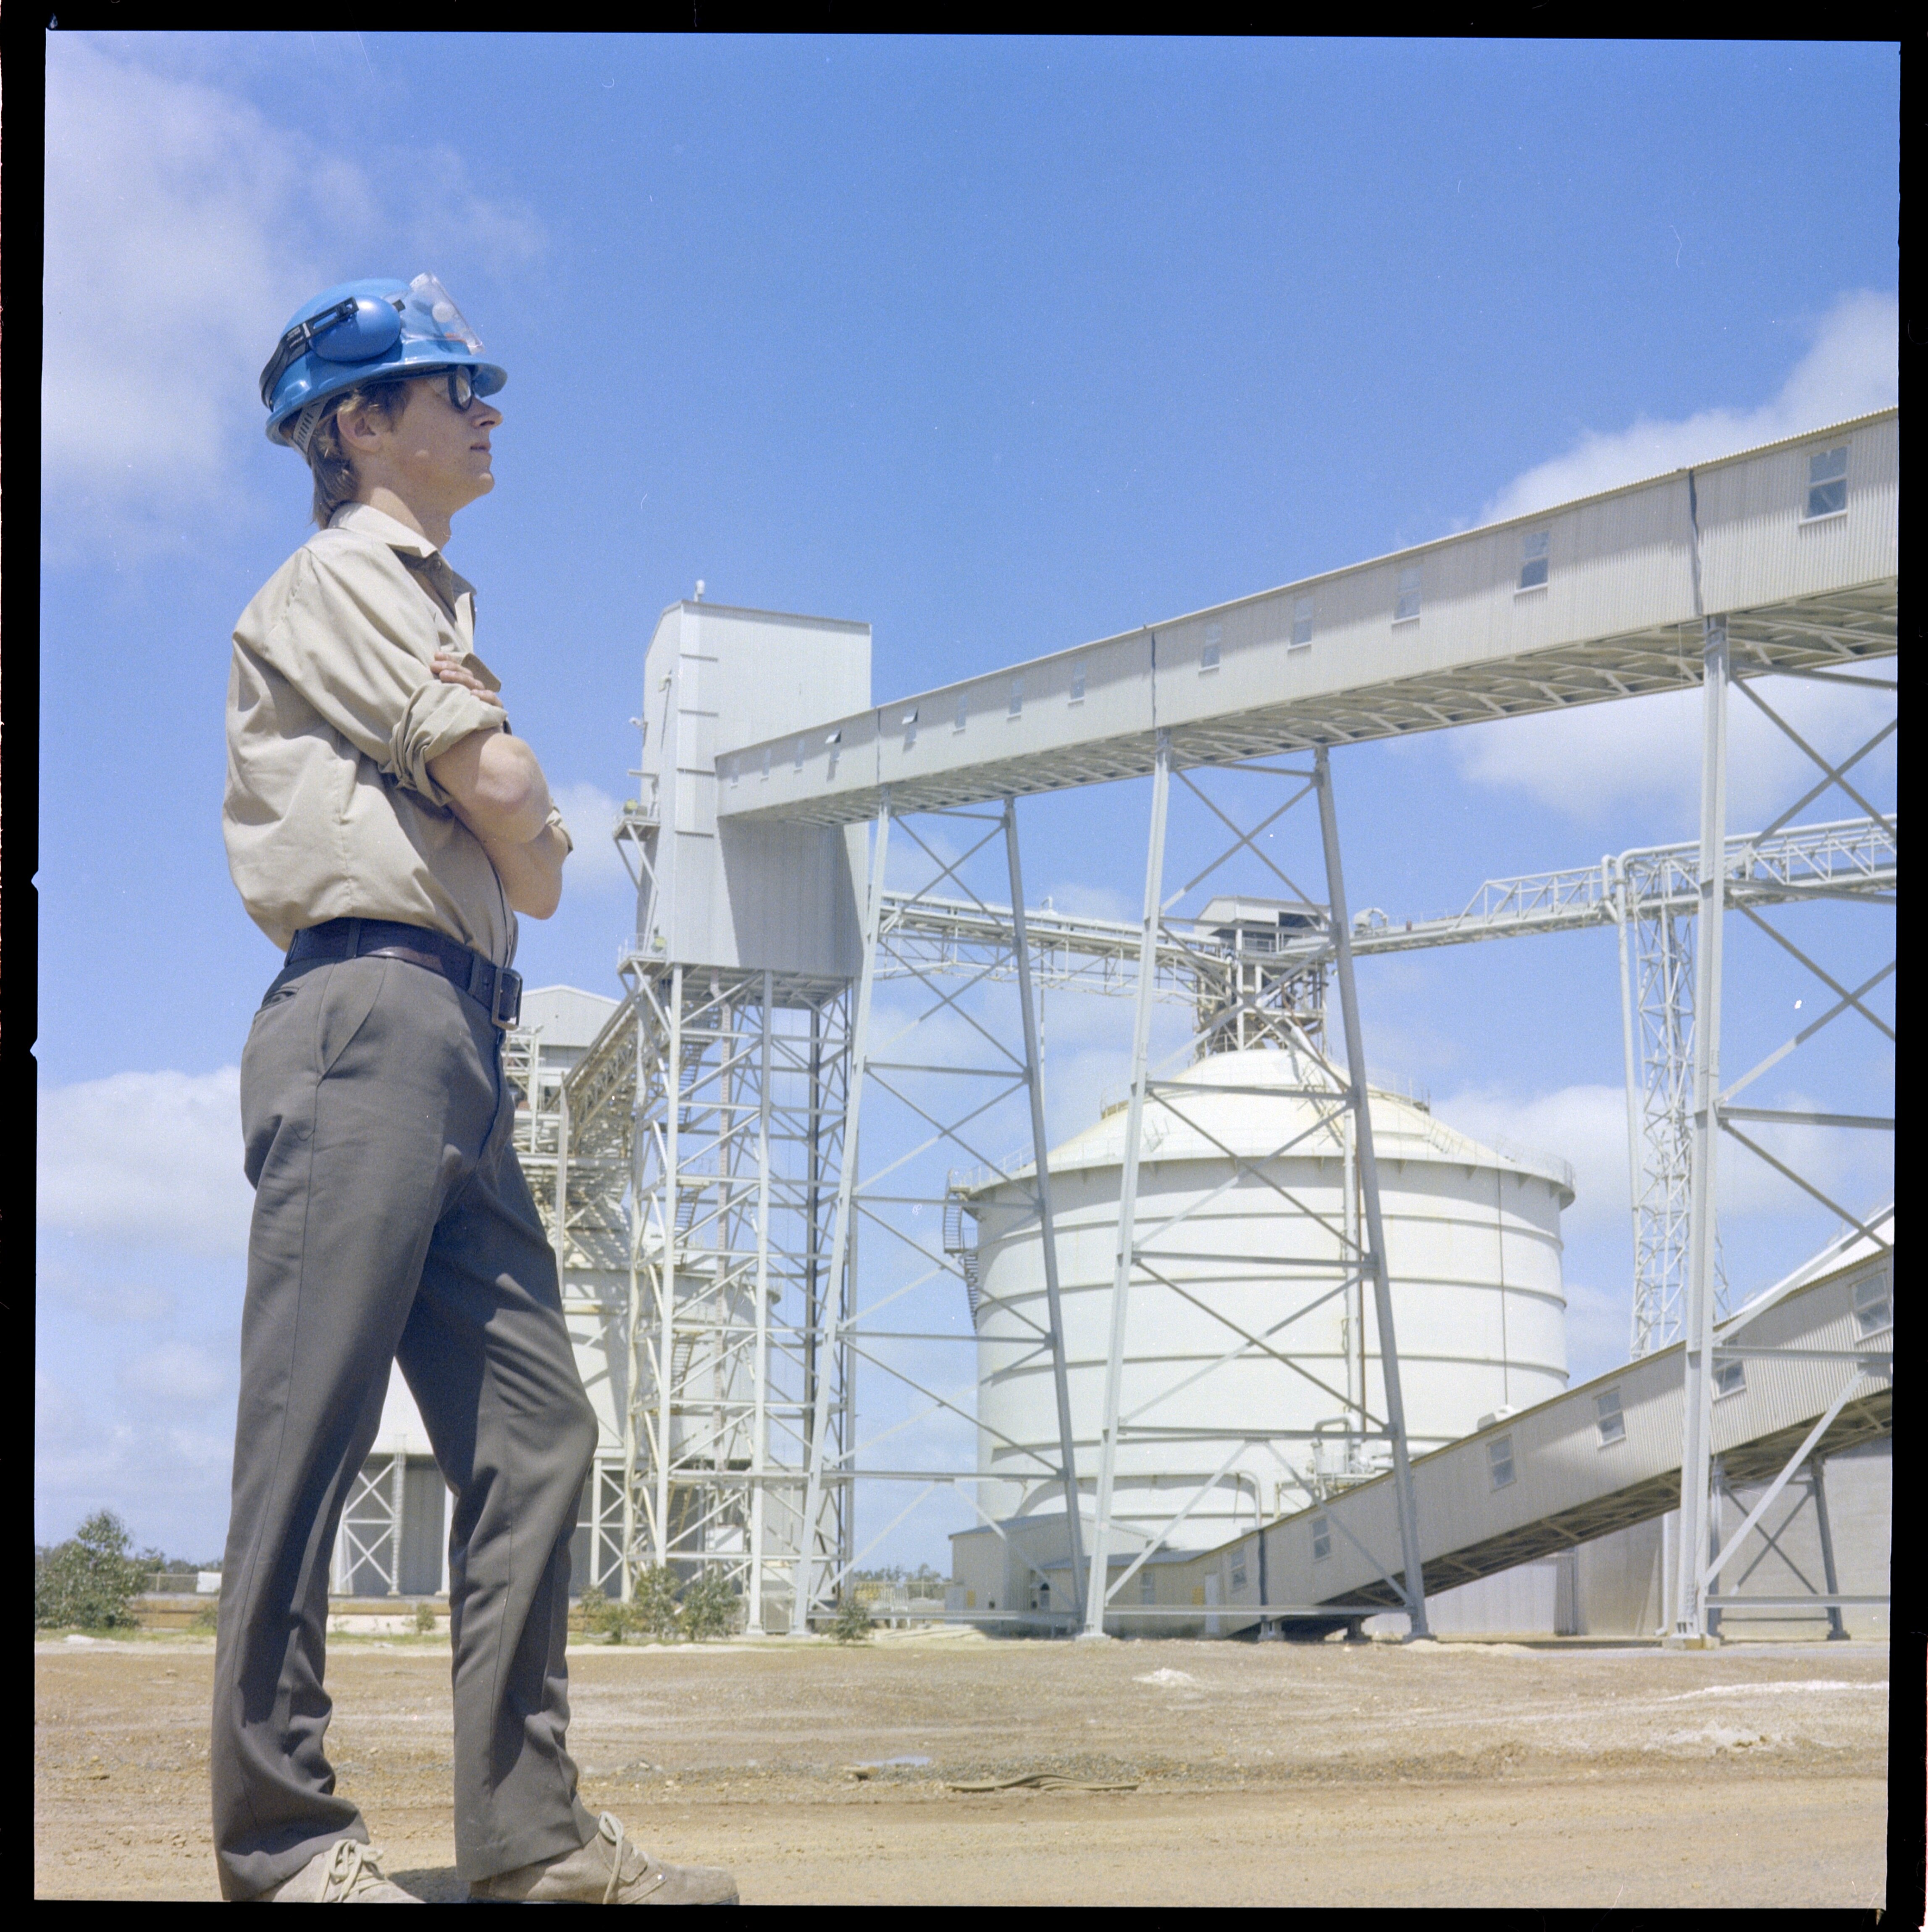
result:
<svg viewBox="0 0 1928 1932"><path fill-rule="evenodd" d="M35 1893L216 1897L213 1642L35 1644ZM456 1899L446 1638L334 1638L340 1789ZM591 1808L746 1903L1876 1905L1887 1650L572 1648ZM900 1762L891 1762L900 1760ZM858 1776L862 1768L862 1776ZM962 1793L1053 1772L1132 1791Z"/></svg>

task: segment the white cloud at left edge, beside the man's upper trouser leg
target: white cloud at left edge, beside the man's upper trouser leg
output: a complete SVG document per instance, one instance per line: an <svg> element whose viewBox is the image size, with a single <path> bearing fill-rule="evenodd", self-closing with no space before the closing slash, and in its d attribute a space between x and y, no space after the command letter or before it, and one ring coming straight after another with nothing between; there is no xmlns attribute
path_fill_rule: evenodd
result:
<svg viewBox="0 0 1928 1932"><path fill-rule="evenodd" d="M191 1254L241 1254L241 1076L110 1074L39 1097L43 1227Z"/></svg>

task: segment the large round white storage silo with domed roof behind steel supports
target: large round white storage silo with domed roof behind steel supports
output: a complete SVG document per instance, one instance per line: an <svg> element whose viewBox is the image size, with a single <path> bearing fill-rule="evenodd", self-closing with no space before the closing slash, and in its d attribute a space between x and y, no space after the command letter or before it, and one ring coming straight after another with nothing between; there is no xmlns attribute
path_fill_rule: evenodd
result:
<svg viewBox="0 0 1928 1932"><path fill-rule="evenodd" d="M1177 1548L1215 1544L1254 1513L1300 1507L1294 1476L1343 1484L1389 1457L1383 1441L1360 1441L1356 1430L1360 1395L1385 1414L1372 1294L1360 1285L1339 1291L1343 1235L1358 1227L1352 1122L1343 1113L1321 1121L1333 1109L1292 1092L1308 1084L1289 1051L1219 1053L1146 1105L1144 1265L1126 1327L1126 1430L1113 1505L1132 1542L1130 1532L1155 1534L1184 1509L1236 1432L1267 1439L1250 1443L1190 1511ZM1103 1420L1126 1119L1122 1105L1111 1107L1051 1153L1086 1513ZM1559 1215L1573 1202L1573 1175L1557 1159L1482 1146L1397 1094L1372 1094L1372 1121L1406 1426L1422 1453L1468 1434L1482 1416L1567 1385ZM1010 1474L1008 1484L985 1486L979 1501L997 1519L1053 1515L1063 1495L1035 1474L1057 1464L1059 1434L1051 1356L1039 1347L1043 1258L1028 1177L958 1194L978 1231L979 1468ZM1149 1279L1148 1267L1169 1285ZM1279 1327L1296 1308L1308 1312ZM1238 1331L1269 1335L1290 1360L1248 1350L1221 1362L1238 1347ZM1155 1401L1163 1391L1171 1393ZM1217 1434L1184 1439L1186 1432Z"/></svg>

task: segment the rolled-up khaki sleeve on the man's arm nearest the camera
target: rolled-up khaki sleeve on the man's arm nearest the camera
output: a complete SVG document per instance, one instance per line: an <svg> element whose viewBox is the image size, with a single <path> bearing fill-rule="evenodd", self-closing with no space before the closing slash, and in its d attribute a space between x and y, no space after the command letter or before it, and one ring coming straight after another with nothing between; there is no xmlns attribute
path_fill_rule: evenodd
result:
<svg viewBox="0 0 1928 1932"><path fill-rule="evenodd" d="M435 676L439 645L427 599L392 553L344 545L299 553L261 649L386 777L448 806L429 761L471 732L508 724L500 705Z"/></svg>

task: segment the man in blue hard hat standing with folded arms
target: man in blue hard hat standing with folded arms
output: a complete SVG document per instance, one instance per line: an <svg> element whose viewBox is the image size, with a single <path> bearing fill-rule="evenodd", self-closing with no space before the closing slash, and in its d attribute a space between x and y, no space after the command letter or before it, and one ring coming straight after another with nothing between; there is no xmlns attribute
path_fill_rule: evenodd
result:
<svg viewBox="0 0 1928 1932"><path fill-rule="evenodd" d="M442 558L504 373L433 276L303 307L263 371L319 533L234 632L224 833L286 949L241 1057L255 1213L214 1656L222 1893L419 1903L323 1754L328 1559L390 1362L454 1492L456 1853L471 1897L734 1903L576 1795L568 1540L595 1414L510 1134L516 916L568 833Z"/></svg>

